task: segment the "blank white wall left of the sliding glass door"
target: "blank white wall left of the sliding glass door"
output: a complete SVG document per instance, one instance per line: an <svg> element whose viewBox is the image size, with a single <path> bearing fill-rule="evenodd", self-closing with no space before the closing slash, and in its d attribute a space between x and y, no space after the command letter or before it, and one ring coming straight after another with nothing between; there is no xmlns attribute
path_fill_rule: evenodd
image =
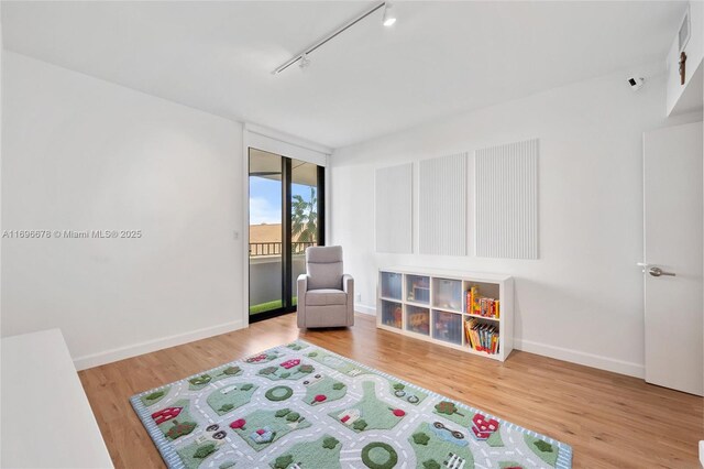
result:
<svg viewBox="0 0 704 469"><path fill-rule="evenodd" d="M2 336L59 327L78 367L241 327L242 126L3 57Z"/></svg>

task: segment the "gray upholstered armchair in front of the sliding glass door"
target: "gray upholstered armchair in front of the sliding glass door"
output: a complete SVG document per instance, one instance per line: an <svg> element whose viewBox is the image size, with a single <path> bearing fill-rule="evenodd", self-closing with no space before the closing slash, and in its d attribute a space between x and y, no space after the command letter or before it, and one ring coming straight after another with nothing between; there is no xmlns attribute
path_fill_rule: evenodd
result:
<svg viewBox="0 0 704 469"><path fill-rule="evenodd" d="M298 276L298 327L354 326L354 279L342 273L342 247L306 250Z"/></svg>

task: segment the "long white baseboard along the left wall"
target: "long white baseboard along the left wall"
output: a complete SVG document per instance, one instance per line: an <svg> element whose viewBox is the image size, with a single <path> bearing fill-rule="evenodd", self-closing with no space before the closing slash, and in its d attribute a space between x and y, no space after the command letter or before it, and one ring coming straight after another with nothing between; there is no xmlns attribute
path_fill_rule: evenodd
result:
<svg viewBox="0 0 704 469"><path fill-rule="evenodd" d="M150 353L168 347L180 346L184 343L193 342L195 340L218 336L220 334L231 332L233 330L241 329L242 327L242 320L233 320L231 323L205 327L202 329L193 330L185 334L161 337L154 340L132 343L129 346L101 351L99 353L78 357L74 359L74 366L76 367L76 370L86 370L88 368L99 367L101 364L111 363L113 361L124 360L125 358Z"/></svg>

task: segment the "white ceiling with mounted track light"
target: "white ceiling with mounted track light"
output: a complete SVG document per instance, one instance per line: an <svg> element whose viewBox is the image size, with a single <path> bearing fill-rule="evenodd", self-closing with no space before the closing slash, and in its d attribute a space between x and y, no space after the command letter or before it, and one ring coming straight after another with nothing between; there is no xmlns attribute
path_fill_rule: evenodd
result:
<svg viewBox="0 0 704 469"><path fill-rule="evenodd" d="M664 59L683 2L9 2L6 48L339 148ZM664 105L663 105L664 106Z"/></svg>

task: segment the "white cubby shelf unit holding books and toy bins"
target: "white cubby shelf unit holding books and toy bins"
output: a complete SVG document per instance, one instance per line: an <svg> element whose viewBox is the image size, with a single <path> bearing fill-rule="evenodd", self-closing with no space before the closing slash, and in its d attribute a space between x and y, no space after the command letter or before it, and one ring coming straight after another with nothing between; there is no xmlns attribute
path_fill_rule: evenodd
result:
<svg viewBox="0 0 704 469"><path fill-rule="evenodd" d="M479 297L499 301L497 318L468 310L466 292L472 287ZM465 323L472 319L498 330L496 353L472 348L465 334ZM514 349L514 280L424 268L380 269L376 327L504 361Z"/></svg>

